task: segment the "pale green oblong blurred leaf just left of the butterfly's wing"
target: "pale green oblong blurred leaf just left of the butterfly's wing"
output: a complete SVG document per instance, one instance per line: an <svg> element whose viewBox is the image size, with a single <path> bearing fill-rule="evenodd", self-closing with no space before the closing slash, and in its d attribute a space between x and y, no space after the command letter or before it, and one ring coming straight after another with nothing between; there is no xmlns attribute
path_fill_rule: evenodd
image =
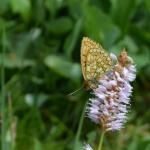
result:
<svg viewBox="0 0 150 150"><path fill-rule="evenodd" d="M55 55L47 56L44 62L50 69L59 75L69 78L75 82L79 82L81 77L79 64L71 63L65 60L65 58Z"/></svg>

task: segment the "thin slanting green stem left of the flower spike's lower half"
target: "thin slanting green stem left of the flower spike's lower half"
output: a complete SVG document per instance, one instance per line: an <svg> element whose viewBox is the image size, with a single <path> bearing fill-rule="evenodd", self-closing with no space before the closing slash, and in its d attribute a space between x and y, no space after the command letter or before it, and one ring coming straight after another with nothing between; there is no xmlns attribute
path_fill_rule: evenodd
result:
<svg viewBox="0 0 150 150"><path fill-rule="evenodd" d="M85 110L86 110L86 103L85 103L84 109L82 111L82 115L80 117L80 122L79 122L78 130L77 130L77 134L76 134L76 138L75 138L74 150L76 150L76 147L77 147L79 139L80 139L81 130L82 130L82 126L83 126L83 120L84 120L84 116L85 116Z"/></svg>

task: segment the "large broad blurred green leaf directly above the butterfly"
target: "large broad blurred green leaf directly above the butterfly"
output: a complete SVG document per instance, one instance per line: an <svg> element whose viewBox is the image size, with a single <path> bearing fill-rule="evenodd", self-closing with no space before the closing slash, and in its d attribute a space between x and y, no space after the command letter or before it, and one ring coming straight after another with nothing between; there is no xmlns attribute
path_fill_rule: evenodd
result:
<svg viewBox="0 0 150 150"><path fill-rule="evenodd" d="M83 11L84 31L89 37L101 42L105 47L109 47L120 37L119 28L100 9L85 5Z"/></svg>

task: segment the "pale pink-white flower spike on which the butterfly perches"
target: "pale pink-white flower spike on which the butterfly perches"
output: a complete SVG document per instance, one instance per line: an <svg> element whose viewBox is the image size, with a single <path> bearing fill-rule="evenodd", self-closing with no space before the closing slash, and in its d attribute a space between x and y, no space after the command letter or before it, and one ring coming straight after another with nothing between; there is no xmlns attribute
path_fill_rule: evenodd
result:
<svg viewBox="0 0 150 150"><path fill-rule="evenodd" d="M105 131L119 130L127 120L132 86L136 68L126 52L122 52L113 68L100 80L93 90L94 98L89 99L87 116L95 123L101 123Z"/></svg>

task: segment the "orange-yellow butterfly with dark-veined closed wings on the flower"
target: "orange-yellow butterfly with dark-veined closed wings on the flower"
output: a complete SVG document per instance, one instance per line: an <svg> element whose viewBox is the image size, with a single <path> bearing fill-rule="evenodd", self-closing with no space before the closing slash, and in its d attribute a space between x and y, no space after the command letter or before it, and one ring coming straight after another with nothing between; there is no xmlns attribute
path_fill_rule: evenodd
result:
<svg viewBox="0 0 150 150"><path fill-rule="evenodd" d="M102 46L88 37L81 43L81 68L85 89L98 87L99 79L112 67L112 59Z"/></svg>

